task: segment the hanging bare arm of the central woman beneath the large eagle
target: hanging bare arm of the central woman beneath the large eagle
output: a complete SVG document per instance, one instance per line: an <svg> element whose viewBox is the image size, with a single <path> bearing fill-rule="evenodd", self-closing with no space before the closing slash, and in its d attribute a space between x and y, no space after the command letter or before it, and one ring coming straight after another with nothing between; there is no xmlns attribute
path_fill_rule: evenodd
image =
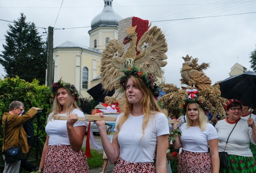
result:
<svg viewBox="0 0 256 173"><path fill-rule="evenodd" d="M156 173L166 173L166 150L168 149L168 135L157 137Z"/></svg>

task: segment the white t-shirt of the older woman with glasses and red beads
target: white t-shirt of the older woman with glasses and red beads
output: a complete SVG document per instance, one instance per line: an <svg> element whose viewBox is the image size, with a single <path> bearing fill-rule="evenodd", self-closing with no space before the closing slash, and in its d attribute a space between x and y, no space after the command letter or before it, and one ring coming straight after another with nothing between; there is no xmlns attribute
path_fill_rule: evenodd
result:
<svg viewBox="0 0 256 173"><path fill-rule="evenodd" d="M228 135L235 124L229 124L225 119L216 123L215 128L219 136L219 152L224 151ZM252 128L248 127L247 120L240 119L232 131L225 151L231 155L240 155L245 157L252 157L252 151L249 148L249 143L252 140Z"/></svg>

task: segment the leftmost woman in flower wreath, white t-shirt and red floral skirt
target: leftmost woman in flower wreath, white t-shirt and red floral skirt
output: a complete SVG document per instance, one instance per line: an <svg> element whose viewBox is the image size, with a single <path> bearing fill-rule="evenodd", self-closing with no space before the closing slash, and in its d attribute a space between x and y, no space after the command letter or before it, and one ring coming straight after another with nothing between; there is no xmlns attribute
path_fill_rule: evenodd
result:
<svg viewBox="0 0 256 173"><path fill-rule="evenodd" d="M39 171L44 173L89 173L87 158L81 149L87 123L78 121L84 113L78 107L79 92L61 79L52 85L52 111L45 127L47 133ZM66 115L68 120L54 120Z"/></svg>

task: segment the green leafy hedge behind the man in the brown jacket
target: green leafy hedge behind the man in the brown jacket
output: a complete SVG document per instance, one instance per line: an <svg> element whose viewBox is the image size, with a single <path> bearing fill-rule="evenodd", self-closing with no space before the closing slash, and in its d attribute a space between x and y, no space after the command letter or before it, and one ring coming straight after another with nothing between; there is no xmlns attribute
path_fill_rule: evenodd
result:
<svg viewBox="0 0 256 173"><path fill-rule="evenodd" d="M22 101L25 105L25 110L28 111L31 107L41 107L42 115L35 115L34 135L40 136L40 143L44 144L46 139L45 126L47 117L51 109L52 92L48 86L40 86L38 80L33 80L31 83L25 80L16 78L5 78L0 80L0 118L4 112L8 112L10 103L14 100ZM1 121L2 124L2 121ZM38 126L37 126L38 124ZM2 128L2 125L1 125ZM0 147L2 148L2 138L4 137L2 129L0 130ZM42 145L43 146L43 145ZM0 158L1 161L2 158Z"/></svg>

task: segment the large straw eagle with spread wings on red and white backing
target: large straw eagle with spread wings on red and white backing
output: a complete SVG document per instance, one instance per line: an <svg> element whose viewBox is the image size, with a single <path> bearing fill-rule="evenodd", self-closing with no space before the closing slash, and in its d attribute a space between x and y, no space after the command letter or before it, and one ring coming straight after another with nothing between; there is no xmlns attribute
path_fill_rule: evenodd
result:
<svg viewBox="0 0 256 173"><path fill-rule="evenodd" d="M110 40L102 54L100 76L104 89L117 88L118 77L123 75L121 70L133 65L162 78L167 43L160 28L150 26L148 20L137 17L120 20L118 40Z"/></svg>

